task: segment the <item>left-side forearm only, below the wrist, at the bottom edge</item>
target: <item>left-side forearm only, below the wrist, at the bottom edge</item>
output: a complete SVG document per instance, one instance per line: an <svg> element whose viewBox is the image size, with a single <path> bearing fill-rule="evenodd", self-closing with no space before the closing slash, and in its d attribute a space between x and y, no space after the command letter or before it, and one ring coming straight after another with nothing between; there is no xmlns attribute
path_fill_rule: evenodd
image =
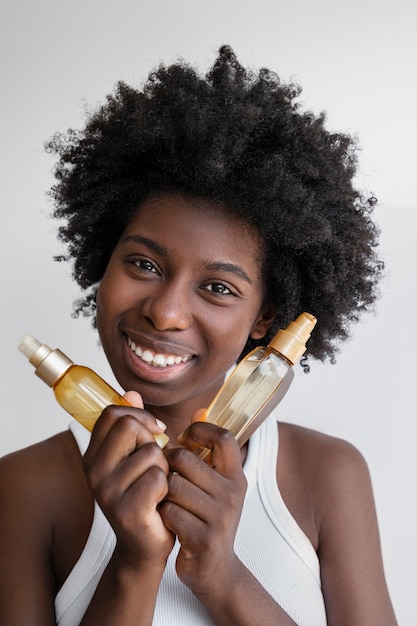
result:
<svg viewBox="0 0 417 626"><path fill-rule="evenodd" d="M164 565L132 568L115 553L80 626L150 626Z"/></svg>

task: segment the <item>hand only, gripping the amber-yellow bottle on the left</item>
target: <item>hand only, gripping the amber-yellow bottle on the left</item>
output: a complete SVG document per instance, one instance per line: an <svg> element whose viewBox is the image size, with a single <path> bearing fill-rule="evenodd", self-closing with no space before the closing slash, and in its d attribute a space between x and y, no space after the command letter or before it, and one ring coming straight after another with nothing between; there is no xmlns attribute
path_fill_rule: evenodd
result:
<svg viewBox="0 0 417 626"><path fill-rule="evenodd" d="M174 535L158 505L168 492L168 462L153 435L160 423L143 409L136 392L125 394L136 406L107 407L97 421L84 456L91 492L117 536L117 550L131 567L165 564Z"/></svg>

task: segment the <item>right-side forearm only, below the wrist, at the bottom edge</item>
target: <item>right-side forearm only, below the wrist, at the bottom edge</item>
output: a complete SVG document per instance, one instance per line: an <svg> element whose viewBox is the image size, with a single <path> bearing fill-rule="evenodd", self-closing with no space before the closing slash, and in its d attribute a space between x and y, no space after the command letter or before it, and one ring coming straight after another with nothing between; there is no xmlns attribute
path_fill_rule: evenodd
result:
<svg viewBox="0 0 417 626"><path fill-rule="evenodd" d="M216 584L215 589L196 595L217 626L295 626L240 561L228 583Z"/></svg>

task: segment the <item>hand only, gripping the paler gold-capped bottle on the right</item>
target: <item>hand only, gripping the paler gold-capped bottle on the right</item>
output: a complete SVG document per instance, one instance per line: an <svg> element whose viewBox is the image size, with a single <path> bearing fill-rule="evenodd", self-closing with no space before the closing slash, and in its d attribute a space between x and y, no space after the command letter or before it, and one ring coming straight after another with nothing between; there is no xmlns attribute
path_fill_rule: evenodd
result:
<svg viewBox="0 0 417 626"><path fill-rule="evenodd" d="M230 584L237 566L233 545L246 492L241 450L233 435L203 422L182 435L184 448L166 450L171 474L160 506L167 528L178 535L177 574L197 596ZM211 450L210 465L187 447Z"/></svg>

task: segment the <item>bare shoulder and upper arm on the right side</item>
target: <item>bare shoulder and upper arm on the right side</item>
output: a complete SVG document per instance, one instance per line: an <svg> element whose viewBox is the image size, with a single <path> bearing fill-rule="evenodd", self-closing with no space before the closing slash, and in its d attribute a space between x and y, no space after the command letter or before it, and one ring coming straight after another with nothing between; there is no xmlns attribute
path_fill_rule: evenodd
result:
<svg viewBox="0 0 417 626"><path fill-rule="evenodd" d="M320 560L329 624L396 624L367 463L351 443L280 424L278 484Z"/></svg>

